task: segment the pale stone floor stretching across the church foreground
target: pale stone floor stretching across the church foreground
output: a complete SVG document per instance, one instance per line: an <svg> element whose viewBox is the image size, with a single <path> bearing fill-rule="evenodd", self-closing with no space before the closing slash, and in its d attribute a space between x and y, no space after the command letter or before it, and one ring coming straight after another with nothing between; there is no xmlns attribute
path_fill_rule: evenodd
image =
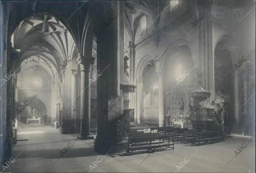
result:
<svg viewBox="0 0 256 173"><path fill-rule="evenodd" d="M63 135L50 126L23 127L22 132L26 131L34 132L18 134L19 139L29 140L14 145L13 156L20 155L3 172L255 172L255 138L251 137L228 136L224 143L201 146L175 143L174 150L159 150L151 155L140 152L104 157L93 151L92 140L76 141L77 135ZM235 150L239 152L237 148L249 141L247 148L234 157ZM74 145L61 157L60 152L65 152L63 148L68 143ZM92 162L97 157L102 162L94 166ZM184 158L187 163L181 162L181 166Z"/></svg>

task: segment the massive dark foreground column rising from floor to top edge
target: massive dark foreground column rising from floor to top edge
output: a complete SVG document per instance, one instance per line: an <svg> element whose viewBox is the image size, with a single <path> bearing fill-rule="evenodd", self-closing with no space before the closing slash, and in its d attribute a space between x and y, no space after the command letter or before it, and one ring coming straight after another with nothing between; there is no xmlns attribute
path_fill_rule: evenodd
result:
<svg viewBox="0 0 256 173"><path fill-rule="evenodd" d="M115 19L97 33L97 69L102 76L97 81L97 137L94 148L102 154L125 150L127 143L117 135L118 120L125 114L122 112L124 98L118 97L123 94L120 85L124 81L124 2L113 1L113 4L107 15L113 14ZM108 9L107 6L104 8ZM116 101L111 106L113 100Z"/></svg>

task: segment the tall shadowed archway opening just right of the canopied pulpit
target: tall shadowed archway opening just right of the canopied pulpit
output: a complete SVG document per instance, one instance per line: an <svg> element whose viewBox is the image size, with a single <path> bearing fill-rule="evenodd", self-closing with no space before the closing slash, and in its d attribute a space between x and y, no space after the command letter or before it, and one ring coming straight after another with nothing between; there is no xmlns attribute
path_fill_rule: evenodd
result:
<svg viewBox="0 0 256 173"><path fill-rule="evenodd" d="M224 39L218 42L214 51L215 112L221 120L224 120L225 133L230 133L235 122L234 85L236 84L234 76L230 75L234 66L230 51Z"/></svg>

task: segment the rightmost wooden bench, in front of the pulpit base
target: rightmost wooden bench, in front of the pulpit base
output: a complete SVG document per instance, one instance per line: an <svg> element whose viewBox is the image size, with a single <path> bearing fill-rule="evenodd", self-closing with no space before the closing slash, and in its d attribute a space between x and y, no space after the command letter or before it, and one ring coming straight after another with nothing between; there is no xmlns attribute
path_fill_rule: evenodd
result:
<svg viewBox="0 0 256 173"><path fill-rule="evenodd" d="M222 131L216 130L216 131L204 131L204 132L194 133L193 143L198 143L198 145L200 146L200 142L213 143L216 140L223 140L223 142L225 141L225 136Z"/></svg>

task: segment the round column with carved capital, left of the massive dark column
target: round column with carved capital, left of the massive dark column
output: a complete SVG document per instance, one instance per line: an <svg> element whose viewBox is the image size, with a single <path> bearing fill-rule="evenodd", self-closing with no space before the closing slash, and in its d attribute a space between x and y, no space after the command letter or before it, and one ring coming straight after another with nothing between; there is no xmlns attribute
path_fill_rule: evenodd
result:
<svg viewBox="0 0 256 173"><path fill-rule="evenodd" d="M80 65L81 73L81 139L93 139L93 136L90 136L90 115L91 115L91 87L90 87L90 76L91 76L91 67L93 64L94 58L84 57L81 53L78 53L77 62Z"/></svg>

